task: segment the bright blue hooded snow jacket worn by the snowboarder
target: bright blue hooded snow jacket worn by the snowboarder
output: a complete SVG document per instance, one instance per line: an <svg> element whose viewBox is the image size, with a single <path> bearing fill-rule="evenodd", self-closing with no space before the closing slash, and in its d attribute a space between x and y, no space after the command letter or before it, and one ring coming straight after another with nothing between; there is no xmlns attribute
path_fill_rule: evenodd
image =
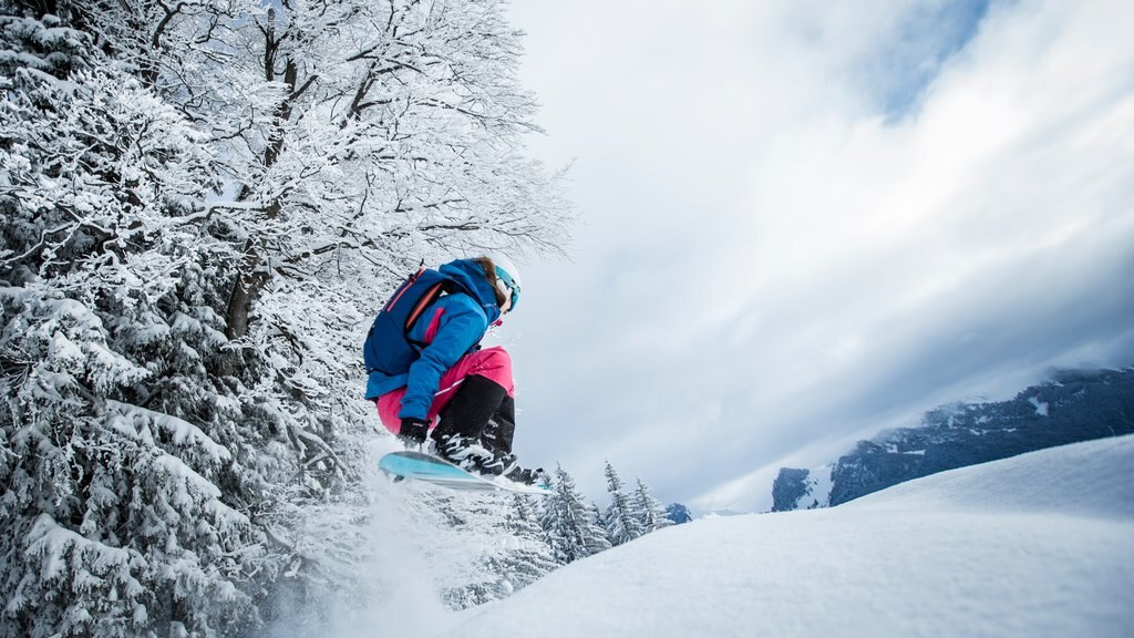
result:
<svg viewBox="0 0 1134 638"><path fill-rule="evenodd" d="M429 345L422 349L408 372L387 375L375 370L366 379L366 398L370 400L407 386L398 412L400 419L425 419L441 375L466 353L475 351L489 326L500 319L496 293L479 263L458 259L438 270L473 294L441 295L422 313L409 330L409 338Z"/></svg>

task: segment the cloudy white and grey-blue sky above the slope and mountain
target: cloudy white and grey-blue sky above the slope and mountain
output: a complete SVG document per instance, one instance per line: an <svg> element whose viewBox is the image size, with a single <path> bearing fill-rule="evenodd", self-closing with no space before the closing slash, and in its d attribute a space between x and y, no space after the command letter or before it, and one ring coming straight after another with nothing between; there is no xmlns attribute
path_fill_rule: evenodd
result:
<svg viewBox="0 0 1134 638"><path fill-rule="evenodd" d="M1134 5L510 14L582 220L500 334L528 463L762 510L781 465L1134 364Z"/></svg>

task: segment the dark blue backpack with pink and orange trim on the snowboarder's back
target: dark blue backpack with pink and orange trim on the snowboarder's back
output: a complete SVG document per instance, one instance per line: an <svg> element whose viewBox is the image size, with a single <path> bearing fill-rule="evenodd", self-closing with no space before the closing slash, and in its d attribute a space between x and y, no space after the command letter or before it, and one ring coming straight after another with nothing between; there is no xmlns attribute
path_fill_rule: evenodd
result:
<svg viewBox="0 0 1134 638"><path fill-rule="evenodd" d="M425 343L409 338L409 330L417 319L442 294L466 292L464 286L430 268L411 275L393 291L386 302L363 344L366 372L380 371L390 376L404 375L417 360Z"/></svg>

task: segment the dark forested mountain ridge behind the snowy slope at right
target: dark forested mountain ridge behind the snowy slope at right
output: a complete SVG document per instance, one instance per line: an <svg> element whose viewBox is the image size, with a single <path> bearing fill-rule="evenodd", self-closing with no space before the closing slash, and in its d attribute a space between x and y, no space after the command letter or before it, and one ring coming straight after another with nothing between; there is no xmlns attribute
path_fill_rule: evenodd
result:
<svg viewBox="0 0 1134 638"><path fill-rule="evenodd" d="M1134 368L1064 370L1010 401L926 412L920 427L860 440L833 465L782 468L772 484L772 511L838 505L943 470L1131 433Z"/></svg>

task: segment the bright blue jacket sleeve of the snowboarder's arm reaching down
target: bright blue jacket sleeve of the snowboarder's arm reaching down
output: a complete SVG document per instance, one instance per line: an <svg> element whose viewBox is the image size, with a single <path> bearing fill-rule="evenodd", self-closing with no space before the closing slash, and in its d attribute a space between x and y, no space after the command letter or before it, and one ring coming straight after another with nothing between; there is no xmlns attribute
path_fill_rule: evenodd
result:
<svg viewBox="0 0 1134 638"><path fill-rule="evenodd" d="M437 305L442 309L440 325L433 341L422 350L417 361L409 366L399 419L425 418L441 384L441 375L476 345L488 329L484 311L466 295L441 297ZM432 317L434 312L434 309L430 309L425 317ZM424 331L426 328L414 327L415 331L418 329Z"/></svg>

